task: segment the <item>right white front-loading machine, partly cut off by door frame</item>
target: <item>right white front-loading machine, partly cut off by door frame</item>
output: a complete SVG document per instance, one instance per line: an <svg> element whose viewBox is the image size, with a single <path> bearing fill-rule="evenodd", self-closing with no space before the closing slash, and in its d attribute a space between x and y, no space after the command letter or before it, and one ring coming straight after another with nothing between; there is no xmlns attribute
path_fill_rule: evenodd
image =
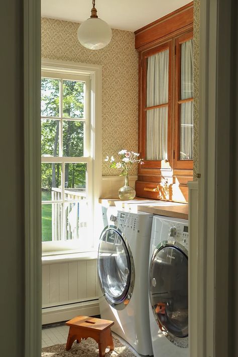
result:
<svg viewBox="0 0 238 357"><path fill-rule="evenodd" d="M188 221L154 216L149 315L154 357L188 357Z"/></svg>

